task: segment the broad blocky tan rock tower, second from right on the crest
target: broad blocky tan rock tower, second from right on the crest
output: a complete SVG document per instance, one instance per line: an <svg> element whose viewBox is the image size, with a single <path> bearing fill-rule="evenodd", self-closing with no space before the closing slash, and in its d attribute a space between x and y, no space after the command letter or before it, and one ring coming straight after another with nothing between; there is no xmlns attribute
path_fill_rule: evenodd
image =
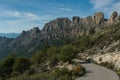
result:
<svg viewBox="0 0 120 80"><path fill-rule="evenodd" d="M93 16L93 21L95 25L99 25L102 22L104 22L104 13L102 12L97 12Z"/></svg>

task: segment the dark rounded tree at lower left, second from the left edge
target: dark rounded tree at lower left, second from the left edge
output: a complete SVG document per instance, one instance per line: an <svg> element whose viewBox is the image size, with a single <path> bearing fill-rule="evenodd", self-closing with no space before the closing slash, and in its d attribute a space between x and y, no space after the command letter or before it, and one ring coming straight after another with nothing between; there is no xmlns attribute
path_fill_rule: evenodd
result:
<svg viewBox="0 0 120 80"><path fill-rule="evenodd" d="M18 58L13 65L13 71L23 73L25 70L29 69L31 61L28 58Z"/></svg>

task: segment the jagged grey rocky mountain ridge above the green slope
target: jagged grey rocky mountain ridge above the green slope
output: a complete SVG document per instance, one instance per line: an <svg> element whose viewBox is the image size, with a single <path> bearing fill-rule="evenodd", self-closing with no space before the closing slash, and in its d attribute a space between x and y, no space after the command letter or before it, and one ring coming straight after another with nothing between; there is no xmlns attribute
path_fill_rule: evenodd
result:
<svg viewBox="0 0 120 80"><path fill-rule="evenodd" d="M113 12L109 20L104 18L102 12L95 13L94 16L80 18L74 16L72 20L68 18L57 18L45 24L42 30L35 27L29 31L23 31L19 37L8 40L3 44L0 40L0 56L8 53L31 53L43 44L61 44L64 38L76 39L80 35L89 34L91 29L99 31L105 25L112 25L120 22L120 16ZM104 25L104 26L103 26ZM6 48L7 46L7 48Z"/></svg>

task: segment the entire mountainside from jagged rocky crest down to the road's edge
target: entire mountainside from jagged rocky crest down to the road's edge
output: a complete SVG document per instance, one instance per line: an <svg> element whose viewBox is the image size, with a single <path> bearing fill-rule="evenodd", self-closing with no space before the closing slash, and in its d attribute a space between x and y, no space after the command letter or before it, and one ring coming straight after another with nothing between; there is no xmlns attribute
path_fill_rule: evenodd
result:
<svg viewBox="0 0 120 80"><path fill-rule="evenodd" d="M117 12L109 19L102 12L72 20L57 18L42 30L35 27L17 38L0 37L0 59L6 58L0 64L0 79L75 80L87 70L75 59L93 61L120 74L119 52Z"/></svg>

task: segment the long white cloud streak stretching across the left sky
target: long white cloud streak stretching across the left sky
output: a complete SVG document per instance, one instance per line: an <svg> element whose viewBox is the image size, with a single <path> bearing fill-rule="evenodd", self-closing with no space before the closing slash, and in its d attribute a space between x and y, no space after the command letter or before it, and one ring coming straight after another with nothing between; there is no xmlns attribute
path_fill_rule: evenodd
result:
<svg viewBox="0 0 120 80"><path fill-rule="evenodd" d="M0 14L0 17L17 18L17 19L30 20L30 21L48 20L51 18L50 15L37 15L31 12L18 12L18 11L4 11Z"/></svg>

